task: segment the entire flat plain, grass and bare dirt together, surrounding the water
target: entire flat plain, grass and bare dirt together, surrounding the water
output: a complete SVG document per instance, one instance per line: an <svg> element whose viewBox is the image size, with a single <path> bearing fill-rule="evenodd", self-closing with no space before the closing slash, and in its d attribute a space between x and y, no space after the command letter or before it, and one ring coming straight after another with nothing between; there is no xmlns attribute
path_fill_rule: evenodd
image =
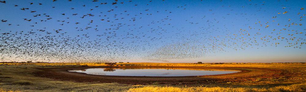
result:
<svg viewBox="0 0 306 92"><path fill-rule="evenodd" d="M68 72L96 67L234 69L241 72L186 77L102 76ZM293 68L294 67L294 68ZM1 63L1 91L21 92L304 92L305 63Z"/></svg>

